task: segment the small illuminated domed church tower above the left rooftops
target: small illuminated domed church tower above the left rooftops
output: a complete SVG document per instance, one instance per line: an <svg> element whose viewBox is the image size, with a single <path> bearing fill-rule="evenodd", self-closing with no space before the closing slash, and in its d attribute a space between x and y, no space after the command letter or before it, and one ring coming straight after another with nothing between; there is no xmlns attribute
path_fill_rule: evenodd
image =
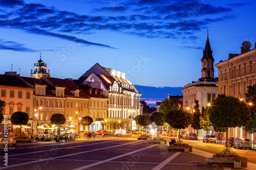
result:
<svg viewBox="0 0 256 170"><path fill-rule="evenodd" d="M31 69L31 78L41 79L41 78L49 78L50 70L47 72L47 64L41 60L41 53L40 53L40 60L34 63L34 72Z"/></svg>

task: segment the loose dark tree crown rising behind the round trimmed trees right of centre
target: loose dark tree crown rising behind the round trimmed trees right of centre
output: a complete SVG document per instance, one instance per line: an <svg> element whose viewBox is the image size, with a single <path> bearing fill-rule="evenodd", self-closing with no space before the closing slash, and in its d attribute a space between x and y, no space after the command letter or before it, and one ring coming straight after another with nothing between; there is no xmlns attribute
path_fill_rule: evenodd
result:
<svg viewBox="0 0 256 170"><path fill-rule="evenodd" d="M159 112L167 114L169 110L179 109L179 100L175 98L165 99L162 101Z"/></svg>

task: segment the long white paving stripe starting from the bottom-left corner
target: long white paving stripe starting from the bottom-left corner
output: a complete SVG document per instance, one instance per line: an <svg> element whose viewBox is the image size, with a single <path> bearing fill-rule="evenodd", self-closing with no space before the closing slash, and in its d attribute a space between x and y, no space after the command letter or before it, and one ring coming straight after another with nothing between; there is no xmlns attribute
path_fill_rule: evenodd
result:
<svg viewBox="0 0 256 170"><path fill-rule="evenodd" d="M110 141L110 142L111 142L111 141ZM122 146L122 145L131 144L131 143L136 143L136 142L141 142L141 141L135 141L135 142L125 143L125 144L119 144L119 145L115 145L115 146L112 146L112 147L99 148L99 149L95 149L95 150L84 151L84 152L78 152L78 153L69 154L69 155L62 155L62 156L52 157L52 158L48 158L48 159L40 159L40 160L36 160L36 161L31 161L31 162L19 163L19 164L15 164L15 165L0 167L0 169L5 169L5 168L9 168L9 167L16 167L16 166L21 166L21 165L27 165L27 164L31 164L31 163L42 162L42 161L47 161L47 160L52 160L52 159L57 159L57 158L63 158L63 157L67 157L67 156L79 155L79 154L84 154L84 153L88 153L88 152L94 152L94 151L99 151L99 150L103 150L103 149L119 147L119 146ZM102 143L102 142L101 142L101 143ZM9 156L8 156L8 157L9 157Z"/></svg>

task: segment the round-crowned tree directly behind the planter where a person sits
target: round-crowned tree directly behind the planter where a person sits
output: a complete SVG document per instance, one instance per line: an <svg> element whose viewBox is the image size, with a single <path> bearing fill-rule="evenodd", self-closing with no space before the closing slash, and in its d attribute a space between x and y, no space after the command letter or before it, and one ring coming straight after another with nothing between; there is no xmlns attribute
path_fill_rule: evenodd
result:
<svg viewBox="0 0 256 170"><path fill-rule="evenodd" d="M182 109L171 109L165 115L165 122L175 129L185 129L192 123L192 114ZM180 141L180 135L179 135Z"/></svg>

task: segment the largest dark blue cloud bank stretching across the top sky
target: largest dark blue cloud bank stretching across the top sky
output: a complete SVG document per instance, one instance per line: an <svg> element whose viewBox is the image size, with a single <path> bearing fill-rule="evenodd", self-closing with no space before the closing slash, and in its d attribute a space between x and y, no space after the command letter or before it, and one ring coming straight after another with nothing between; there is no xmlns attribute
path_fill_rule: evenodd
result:
<svg viewBox="0 0 256 170"><path fill-rule="evenodd" d="M76 34L93 34L95 31L104 30L146 38L195 41L198 38L196 33L211 23L236 19L236 16L224 14L238 5L222 7L201 4L196 0L137 0L132 3L121 1L115 4L102 3L100 8L92 10L97 13L93 16L91 12L80 15L42 4L4 0L0 1L0 6L6 9L1 11L0 27L108 48L114 47L86 41L76 37ZM216 18L214 14L222 14L224 17Z"/></svg>

